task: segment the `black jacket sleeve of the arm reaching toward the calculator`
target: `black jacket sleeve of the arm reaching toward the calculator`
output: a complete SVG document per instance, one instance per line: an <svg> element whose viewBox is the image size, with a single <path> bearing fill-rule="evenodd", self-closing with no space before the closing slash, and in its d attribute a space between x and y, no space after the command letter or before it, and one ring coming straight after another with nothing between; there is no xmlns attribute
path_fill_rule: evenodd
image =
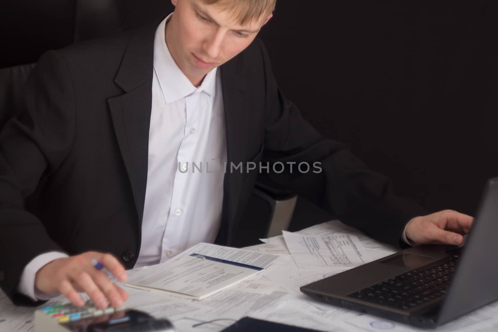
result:
<svg viewBox="0 0 498 332"><path fill-rule="evenodd" d="M72 79L65 61L49 51L26 83L23 110L0 134L0 288L14 303L26 303L16 290L28 262L41 253L64 251L25 210L24 200L64 162L74 130Z"/></svg>

